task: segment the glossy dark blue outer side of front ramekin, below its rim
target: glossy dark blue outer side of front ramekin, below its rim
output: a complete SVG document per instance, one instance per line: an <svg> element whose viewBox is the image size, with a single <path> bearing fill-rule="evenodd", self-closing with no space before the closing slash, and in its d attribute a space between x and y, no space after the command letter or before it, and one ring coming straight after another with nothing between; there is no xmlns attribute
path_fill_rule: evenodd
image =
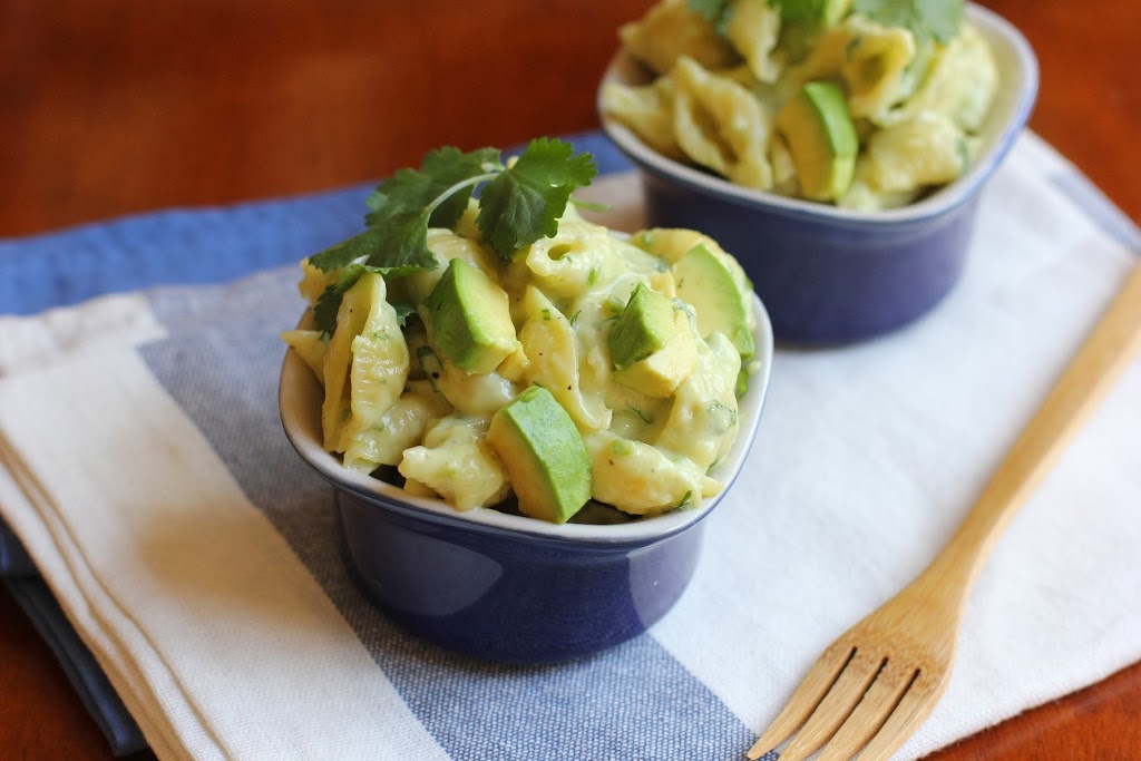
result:
<svg viewBox="0 0 1141 761"><path fill-rule="evenodd" d="M560 541L338 499L350 566L370 597L413 634L501 663L573 659L646 631L689 583L704 527Z"/></svg>

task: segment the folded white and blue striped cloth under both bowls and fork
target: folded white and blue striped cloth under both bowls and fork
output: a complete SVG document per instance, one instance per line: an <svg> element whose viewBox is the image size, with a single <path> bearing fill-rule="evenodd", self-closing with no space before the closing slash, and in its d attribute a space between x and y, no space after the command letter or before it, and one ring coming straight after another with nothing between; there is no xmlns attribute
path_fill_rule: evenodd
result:
<svg viewBox="0 0 1141 761"><path fill-rule="evenodd" d="M599 136L575 141L622 165ZM281 431L293 262L357 229L365 191L0 244L0 311L115 291L0 318L0 516L159 758L741 758L819 650L949 537L1141 251L1025 135L929 316L777 353L758 442L674 609L597 656L509 667L365 600L331 489ZM607 221L639 224L632 175L592 193ZM1141 659L1138 420L1141 363L1000 541L950 687L899 758ZM0 559L27 570L8 540Z"/></svg>

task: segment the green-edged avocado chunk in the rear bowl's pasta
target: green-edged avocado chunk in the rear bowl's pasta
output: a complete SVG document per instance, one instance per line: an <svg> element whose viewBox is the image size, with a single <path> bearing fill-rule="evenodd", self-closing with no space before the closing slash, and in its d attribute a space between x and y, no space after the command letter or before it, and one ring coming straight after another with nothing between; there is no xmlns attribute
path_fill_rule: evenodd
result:
<svg viewBox="0 0 1141 761"><path fill-rule="evenodd" d="M777 113L777 129L792 154L801 193L831 201L852 183L859 140L843 92L832 82L809 82Z"/></svg>

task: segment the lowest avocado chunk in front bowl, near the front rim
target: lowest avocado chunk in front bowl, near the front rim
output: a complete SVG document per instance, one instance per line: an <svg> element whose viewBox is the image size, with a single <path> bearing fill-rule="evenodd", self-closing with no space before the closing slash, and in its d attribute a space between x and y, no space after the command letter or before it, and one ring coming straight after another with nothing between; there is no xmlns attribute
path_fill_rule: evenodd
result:
<svg viewBox="0 0 1141 761"><path fill-rule="evenodd" d="M590 458L582 435L545 388L532 386L500 407L487 443L525 515L564 524L590 499Z"/></svg>

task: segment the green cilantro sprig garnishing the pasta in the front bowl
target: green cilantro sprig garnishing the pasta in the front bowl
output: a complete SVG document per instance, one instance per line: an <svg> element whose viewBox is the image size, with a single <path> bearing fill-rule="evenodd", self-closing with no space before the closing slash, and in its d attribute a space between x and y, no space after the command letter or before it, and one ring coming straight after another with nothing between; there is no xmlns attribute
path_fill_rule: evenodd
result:
<svg viewBox="0 0 1141 761"><path fill-rule="evenodd" d="M476 224L492 250L510 260L555 235L570 194L597 175L593 156L558 139L532 140L510 167L497 148L429 152L420 169L397 171L369 195L364 232L309 257L323 272L342 270L317 299L317 327L333 332L345 293L363 274L395 278L439 266L428 250L428 228L454 227L479 186Z"/></svg>

